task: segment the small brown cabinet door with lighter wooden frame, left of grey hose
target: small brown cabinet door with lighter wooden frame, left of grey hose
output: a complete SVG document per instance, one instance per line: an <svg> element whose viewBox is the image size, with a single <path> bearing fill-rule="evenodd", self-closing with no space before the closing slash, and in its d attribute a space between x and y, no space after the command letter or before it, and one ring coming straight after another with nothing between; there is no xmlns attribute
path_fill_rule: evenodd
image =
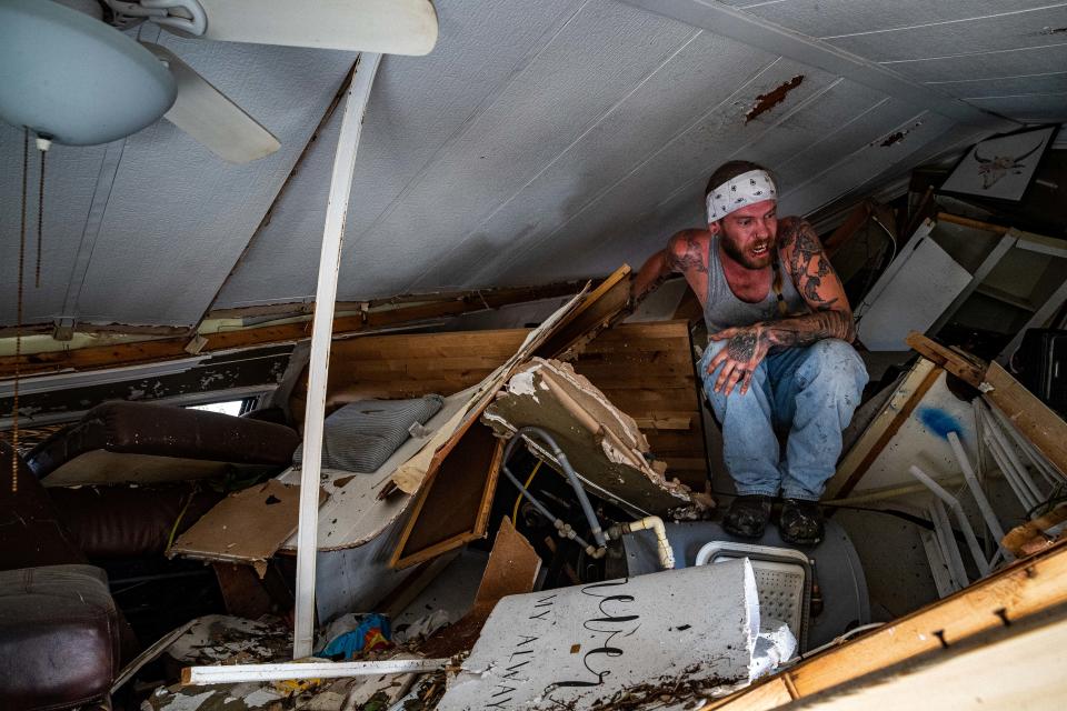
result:
<svg viewBox="0 0 1067 711"><path fill-rule="evenodd" d="M486 537L503 441L473 425L422 482L390 565L408 568Z"/></svg>

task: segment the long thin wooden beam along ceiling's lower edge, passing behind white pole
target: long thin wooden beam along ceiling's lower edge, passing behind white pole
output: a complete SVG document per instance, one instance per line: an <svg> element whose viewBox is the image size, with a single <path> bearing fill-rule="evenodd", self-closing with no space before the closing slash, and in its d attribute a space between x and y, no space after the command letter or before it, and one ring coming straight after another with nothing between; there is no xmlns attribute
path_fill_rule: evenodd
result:
<svg viewBox="0 0 1067 711"><path fill-rule="evenodd" d="M407 323L418 323L419 321L426 321L428 319L453 317L462 313L483 311L486 309L497 309L511 303L564 297L571 293L575 293L574 282L565 282L516 291L500 290L497 293L487 293L485 299L420 303L395 309L368 311L357 316L343 316L338 317L333 321L333 337L356 336L362 332L372 332L375 330ZM205 337L207 344L200 352L210 353L238 350L253 346L292 343L310 338L310 321L300 321L280 326L263 326L208 333ZM30 353L22 356L19 362L21 363L21 374L23 377L68 370L82 371L120 368L152 361L188 358L189 353L185 350L187 341L188 339L186 338L163 338L132 343L94 346L69 351ZM0 379L13 377L14 364L16 359L13 356L0 358Z"/></svg>

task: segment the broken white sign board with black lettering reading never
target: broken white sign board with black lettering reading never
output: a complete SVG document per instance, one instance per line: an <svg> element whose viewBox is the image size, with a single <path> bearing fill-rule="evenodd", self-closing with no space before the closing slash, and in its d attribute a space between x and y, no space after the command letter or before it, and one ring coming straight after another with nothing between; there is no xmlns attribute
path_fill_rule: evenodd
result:
<svg viewBox="0 0 1067 711"><path fill-rule="evenodd" d="M747 559L511 595L437 708L585 709L624 691L720 695L749 682L758 635Z"/></svg>

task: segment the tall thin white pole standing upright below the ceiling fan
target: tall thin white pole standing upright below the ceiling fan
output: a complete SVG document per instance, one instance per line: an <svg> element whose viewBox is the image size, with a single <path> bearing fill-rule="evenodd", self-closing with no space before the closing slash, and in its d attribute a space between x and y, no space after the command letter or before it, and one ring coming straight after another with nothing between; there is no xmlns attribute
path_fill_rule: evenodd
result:
<svg viewBox="0 0 1067 711"><path fill-rule="evenodd" d="M303 465L300 470L300 522L297 528L297 604L292 635L292 657L311 654L315 639L315 559L319 533L319 473L322 467L322 420L326 417L326 382L330 368L330 340L337 274L340 269L345 220L352 190L356 149L370 99L370 87L381 54L363 52L352 68L352 81L345 99L341 132L333 156L330 196L326 203L326 224L319 253L319 283L315 291L315 320L311 326L311 361L308 377L308 403L303 419Z"/></svg>

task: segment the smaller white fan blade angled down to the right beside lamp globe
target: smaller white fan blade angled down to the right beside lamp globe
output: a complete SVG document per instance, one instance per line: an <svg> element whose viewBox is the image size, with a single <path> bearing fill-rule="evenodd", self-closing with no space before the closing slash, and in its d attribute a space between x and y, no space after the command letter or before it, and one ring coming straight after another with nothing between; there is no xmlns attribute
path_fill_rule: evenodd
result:
<svg viewBox="0 0 1067 711"><path fill-rule="evenodd" d="M270 156L281 143L243 109L166 47L142 42L167 63L178 82L178 99L163 118L231 163Z"/></svg>

